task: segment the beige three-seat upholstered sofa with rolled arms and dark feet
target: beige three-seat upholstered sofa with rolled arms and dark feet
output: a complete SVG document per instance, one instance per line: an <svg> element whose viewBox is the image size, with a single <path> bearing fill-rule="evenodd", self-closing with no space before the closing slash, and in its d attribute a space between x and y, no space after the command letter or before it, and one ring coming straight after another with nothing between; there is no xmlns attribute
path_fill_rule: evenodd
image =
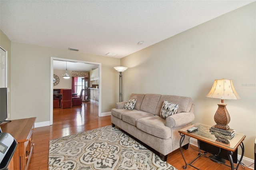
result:
<svg viewBox="0 0 256 170"><path fill-rule="evenodd" d="M170 152L180 148L178 130L194 121L192 99L159 94L132 94L130 99L137 99L133 110L123 109L126 102L116 103L116 108L111 109L112 127L117 126L140 140L166 161ZM178 111L162 119L160 111L165 100L178 104ZM188 138L182 144L188 148Z"/></svg>

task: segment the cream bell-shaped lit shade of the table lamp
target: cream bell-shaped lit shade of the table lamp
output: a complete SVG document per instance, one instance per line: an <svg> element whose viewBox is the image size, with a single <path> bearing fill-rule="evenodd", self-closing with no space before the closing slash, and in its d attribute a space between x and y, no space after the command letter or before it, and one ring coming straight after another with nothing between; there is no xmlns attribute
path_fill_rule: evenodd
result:
<svg viewBox="0 0 256 170"><path fill-rule="evenodd" d="M215 99L240 99L233 86L232 80L228 79L214 80L212 89L206 97Z"/></svg>

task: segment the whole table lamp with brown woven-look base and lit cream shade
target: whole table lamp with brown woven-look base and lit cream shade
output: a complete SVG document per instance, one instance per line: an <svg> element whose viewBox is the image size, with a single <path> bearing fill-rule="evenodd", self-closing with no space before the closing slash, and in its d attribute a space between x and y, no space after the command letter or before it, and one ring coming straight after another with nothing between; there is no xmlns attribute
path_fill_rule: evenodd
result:
<svg viewBox="0 0 256 170"><path fill-rule="evenodd" d="M206 97L221 99L221 103L218 103L218 109L214 115L215 127L228 130L228 123L230 122L230 116L226 109L224 99L240 100L240 97L236 93L232 80L220 79L214 80L212 89Z"/></svg>

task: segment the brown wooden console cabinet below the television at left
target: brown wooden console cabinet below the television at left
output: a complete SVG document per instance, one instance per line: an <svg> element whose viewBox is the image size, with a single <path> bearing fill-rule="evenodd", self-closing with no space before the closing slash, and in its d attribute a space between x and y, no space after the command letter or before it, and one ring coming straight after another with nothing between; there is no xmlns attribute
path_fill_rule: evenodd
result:
<svg viewBox="0 0 256 170"><path fill-rule="evenodd" d="M34 147L33 130L36 117L16 119L1 124L3 132L10 133L17 142L12 156L14 170L27 170Z"/></svg>

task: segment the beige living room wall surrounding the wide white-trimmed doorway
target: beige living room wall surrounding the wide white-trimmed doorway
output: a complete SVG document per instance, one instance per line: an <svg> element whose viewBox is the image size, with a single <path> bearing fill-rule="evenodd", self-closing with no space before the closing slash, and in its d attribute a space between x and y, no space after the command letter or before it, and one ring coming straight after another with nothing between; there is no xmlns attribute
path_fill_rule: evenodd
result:
<svg viewBox="0 0 256 170"><path fill-rule="evenodd" d="M113 67L120 65L120 59L16 42L12 42L11 51L12 119L50 120L50 57L101 63L102 113L115 107L118 75Z"/></svg>

